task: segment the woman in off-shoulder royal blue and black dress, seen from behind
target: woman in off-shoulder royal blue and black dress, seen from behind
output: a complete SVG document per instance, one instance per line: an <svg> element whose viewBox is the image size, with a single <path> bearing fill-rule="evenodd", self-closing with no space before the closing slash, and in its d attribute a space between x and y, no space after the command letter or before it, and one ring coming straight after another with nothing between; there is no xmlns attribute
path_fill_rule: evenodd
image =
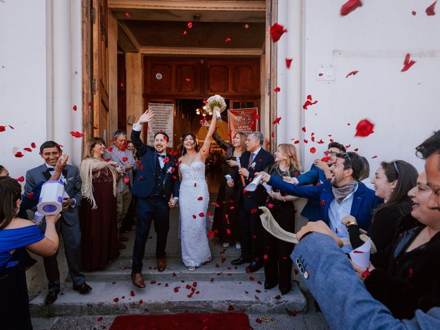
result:
<svg viewBox="0 0 440 330"><path fill-rule="evenodd" d="M20 184L0 177L0 329L32 329L24 250L41 256L58 250L55 223L60 214L46 216L43 235L38 225L17 217L20 204Z"/></svg>

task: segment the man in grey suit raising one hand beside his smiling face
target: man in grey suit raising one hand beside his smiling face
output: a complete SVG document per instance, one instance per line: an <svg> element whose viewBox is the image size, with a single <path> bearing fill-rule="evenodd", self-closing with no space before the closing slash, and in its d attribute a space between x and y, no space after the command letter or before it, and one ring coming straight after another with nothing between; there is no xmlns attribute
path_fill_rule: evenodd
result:
<svg viewBox="0 0 440 330"><path fill-rule="evenodd" d="M59 144L54 141L46 141L40 147L41 158L45 163L32 168L26 172L25 194L32 191L32 188L41 181L47 181L54 174L54 167L58 159L63 155ZM78 168L72 165L66 165L60 181L65 184L65 192L69 199L63 201L63 211L61 218L56 223L58 234L63 234L64 250L69 267L69 274L74 283L74 290L80 294L86 294L91 287L85 283L85 277L82 272L83 264L81 261L81 232L80 221L78 217L78 208L83 195L81 194L81 179ZM45 221L43 221L42 230L45 230ZM43 258L44 268L49 281L49 288L45 298L46 304L52 304L60 292L60 272L56 255Z"/></svg>

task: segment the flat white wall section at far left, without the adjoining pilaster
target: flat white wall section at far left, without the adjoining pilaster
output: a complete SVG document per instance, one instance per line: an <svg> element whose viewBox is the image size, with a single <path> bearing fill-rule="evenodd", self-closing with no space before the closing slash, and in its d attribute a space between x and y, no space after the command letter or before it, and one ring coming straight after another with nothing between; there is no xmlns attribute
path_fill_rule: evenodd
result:
<svg viewBox="0 0 440 330"><path fill-rule="evenodd" d="M44 0L0 2L0 125L15 128L0 132L0 164L16 178L41 158L13 148L46 140L45 10Z"/></svg>

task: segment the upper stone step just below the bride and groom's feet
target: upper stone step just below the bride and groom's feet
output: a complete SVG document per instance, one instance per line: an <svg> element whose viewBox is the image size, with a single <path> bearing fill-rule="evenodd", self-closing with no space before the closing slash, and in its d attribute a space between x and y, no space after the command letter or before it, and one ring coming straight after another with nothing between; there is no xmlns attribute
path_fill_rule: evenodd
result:
<svg viewBox="0 0 440 330"><path fill-rule="evenodd" d="M211 278L244 281L250 276L264 281L263 268L252 274L246 274L245 268L249 263L240 266L231 265L231 261L235 258L236 256L213 256L212 261L197 267L195 271L189 271L180 258L167 258L164 272L157 271L155 258L146 258L142 274L145 281L210 281ZM86 281L131 281L131 263L131 258L119 258L109 264L105 270L85 272Z"/></svg>

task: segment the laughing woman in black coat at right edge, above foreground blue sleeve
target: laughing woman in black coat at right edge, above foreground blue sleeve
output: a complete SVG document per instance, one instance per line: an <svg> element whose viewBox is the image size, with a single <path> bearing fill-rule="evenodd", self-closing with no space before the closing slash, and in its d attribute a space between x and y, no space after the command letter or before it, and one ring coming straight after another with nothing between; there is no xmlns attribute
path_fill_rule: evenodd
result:
<svg viewBox="0 0 440 330"><path fill-rule="evenodd" d="M408 192L410 215L421 225L397 234L386 250L372 254L368 271L353 264L366 289L395 318L409 319L416 309L440 306L440 212L427 206L431 192L423 172Z"/></svg>

